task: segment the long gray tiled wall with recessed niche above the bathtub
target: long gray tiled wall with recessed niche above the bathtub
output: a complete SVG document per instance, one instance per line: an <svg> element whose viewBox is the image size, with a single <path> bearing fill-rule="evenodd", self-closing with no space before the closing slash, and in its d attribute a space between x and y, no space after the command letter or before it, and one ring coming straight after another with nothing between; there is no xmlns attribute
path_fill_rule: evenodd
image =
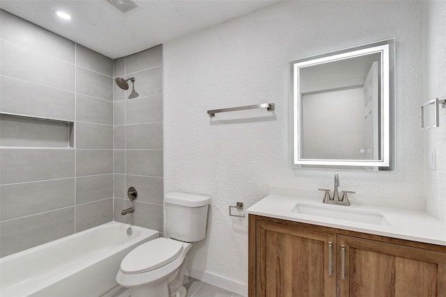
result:
<svg viewBox="0 0 446 297"><path fill-rule="evenodd" d="M0 13L0 111L74 122L75 127L71 145L54 147L53 130L45 129L54 122L34 120L43 129L22 147L8 145L9 138L25 137L28 131L3 121L3 257L113 220L113 61ZM6 134L6 127L15 129Z"/></svg>

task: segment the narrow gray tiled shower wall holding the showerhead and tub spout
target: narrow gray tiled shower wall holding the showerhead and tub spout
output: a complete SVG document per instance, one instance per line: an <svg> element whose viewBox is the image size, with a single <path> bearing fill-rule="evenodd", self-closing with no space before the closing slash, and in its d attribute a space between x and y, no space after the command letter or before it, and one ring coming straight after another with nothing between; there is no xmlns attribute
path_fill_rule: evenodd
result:
<svg viewBox="0 0 446 297"><path fill-rule="evenodd" d="M126 91L114 84L114 220L162 232L162 46L116 59L113 77L134 77ZM121 216L128 207L134 213Z"/></svg>

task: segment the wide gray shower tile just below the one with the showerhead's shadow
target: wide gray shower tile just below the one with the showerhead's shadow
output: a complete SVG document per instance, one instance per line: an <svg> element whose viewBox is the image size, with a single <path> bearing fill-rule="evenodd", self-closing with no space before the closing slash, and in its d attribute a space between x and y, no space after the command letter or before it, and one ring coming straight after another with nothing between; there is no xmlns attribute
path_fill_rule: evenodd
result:
<svg viewBox="0 0 446 297"><path fill-rule="evenodd" d="M125 101L125 123L162 122L162 95Z"/></svg>

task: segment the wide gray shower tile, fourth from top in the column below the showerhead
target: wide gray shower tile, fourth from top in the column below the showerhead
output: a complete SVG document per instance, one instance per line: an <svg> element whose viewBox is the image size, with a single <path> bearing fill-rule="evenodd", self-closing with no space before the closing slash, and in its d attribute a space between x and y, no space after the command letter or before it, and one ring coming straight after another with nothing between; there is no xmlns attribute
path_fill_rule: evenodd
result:
<svg viewBox="0 0 446 297"><path fill-rule="evenodd" d="M162 122L125 126L128 150L162 150Z"/></svg>

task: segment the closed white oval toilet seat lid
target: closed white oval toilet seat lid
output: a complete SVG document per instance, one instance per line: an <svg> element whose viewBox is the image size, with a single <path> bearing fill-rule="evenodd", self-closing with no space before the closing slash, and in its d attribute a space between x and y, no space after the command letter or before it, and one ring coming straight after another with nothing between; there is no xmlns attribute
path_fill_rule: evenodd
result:
<svg viewBox="0 0 446 297"><path fill-rule="evenodd" d="M143 273L174 261L183 250L183 243L163 237L141 244L121 262L123 273Z"/></svg>

